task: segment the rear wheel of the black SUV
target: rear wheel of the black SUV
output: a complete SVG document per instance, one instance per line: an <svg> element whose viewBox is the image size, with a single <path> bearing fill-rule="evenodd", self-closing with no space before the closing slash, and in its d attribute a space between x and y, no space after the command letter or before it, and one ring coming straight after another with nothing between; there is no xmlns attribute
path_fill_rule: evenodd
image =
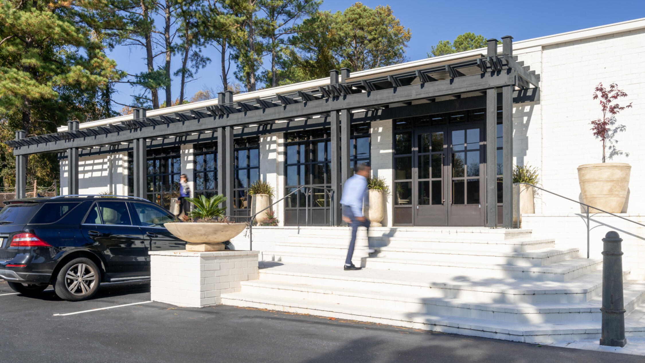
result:
<svg viewBox="0 0 645 363"><path fill-rule="evenodd" d="M90 299L99 290L101 270L94 261L79 257L67 262L56 276L54 291L67 301Z"/></svg>

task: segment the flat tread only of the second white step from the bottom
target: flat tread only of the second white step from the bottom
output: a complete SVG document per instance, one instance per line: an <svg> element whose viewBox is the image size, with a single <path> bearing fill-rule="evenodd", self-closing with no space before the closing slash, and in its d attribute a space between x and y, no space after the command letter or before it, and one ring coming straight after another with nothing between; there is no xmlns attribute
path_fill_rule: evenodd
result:
<svg viewBox="0 0 645 363"><path fill-rule="evenodd" d="M453 306L461 308L481 309L488 311L501 311L507 313L569 313L569 312L598 312L602 305L602 297L594 298L587 302L473 302L472 300L450 297L424 297L419 293L401 293L399 291L374 291L373 289L343 288L341 286L323 286L318 284L298 284L275 280L250 280L244 281L243 286L259 286L275 289L303 291L307 293L326 293L333 295L346 295L355 297L368 297L372 299L394 300L405 302L418 302L422 299L430 305ZM244 288L243 288L244 291ZM645 292L645 282L626 284L624 288L626 304L638 299Z"/></svg>

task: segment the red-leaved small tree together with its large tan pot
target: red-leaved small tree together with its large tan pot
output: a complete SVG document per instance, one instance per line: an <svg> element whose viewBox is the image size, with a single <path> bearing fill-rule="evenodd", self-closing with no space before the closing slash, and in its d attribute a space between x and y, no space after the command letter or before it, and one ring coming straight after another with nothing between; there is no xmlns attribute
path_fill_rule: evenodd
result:
<svg viewBox="0 0 645 363"><path fill-rule="evenodd" d="M616 123L616 115L626 108L631 108L631 103L626 106L617 103L617 100L623 97L627 97L627 93L620 90L615 83L610 84L609 88L602 86L602 83L596 86L593 99L599 101L602 118L591 121L591 131L602 141L602 162L578 167L582 201L611 213L622 211L630 184L630 164L606 162L607 142L611 141L610 138L617 130L611 130ZM624 126L618 127L624 130ZM616 152L615 145L610 146L610 150L611 159ZM598 211L594 208L590 210L591 213Z"/></svg>

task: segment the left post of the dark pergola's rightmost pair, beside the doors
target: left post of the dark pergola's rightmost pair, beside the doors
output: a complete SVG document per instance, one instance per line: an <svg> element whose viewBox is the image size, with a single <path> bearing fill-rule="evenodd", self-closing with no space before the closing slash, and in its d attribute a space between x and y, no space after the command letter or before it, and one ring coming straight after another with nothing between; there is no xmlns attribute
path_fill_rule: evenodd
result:
<svg viewBox="0 0 645 363"><path fill-rule="evenodd" d="M486 55L497 55L497 39L488 39ZM486 226L497 227L497 88L486 90Z"/></svg>

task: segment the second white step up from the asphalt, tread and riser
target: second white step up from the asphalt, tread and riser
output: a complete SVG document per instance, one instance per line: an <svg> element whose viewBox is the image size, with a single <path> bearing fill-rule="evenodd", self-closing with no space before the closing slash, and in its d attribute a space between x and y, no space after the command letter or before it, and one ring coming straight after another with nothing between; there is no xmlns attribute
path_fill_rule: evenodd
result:
<svg viewBox="0 0 645 363"><path fill-rule="evenodd" d="M599 321L601 299L578 303L540 303L504 304L498 302L481 303L472 300L425 297L421 293L393 293L391 291L372 291L369 289L317 286L312 284L290 284L280 281L253 280L242 282L244 293L281 296L293 299L317 300L335 304L365 306L372 308L387 307L408 311L410 315L424 313L450 317L470 317L474 319L518 322L526 324L561 324L562 322ZM645 294L644 284L628 284L624 299L628 302L627 313L634 304L640 304Z"/></svg>

